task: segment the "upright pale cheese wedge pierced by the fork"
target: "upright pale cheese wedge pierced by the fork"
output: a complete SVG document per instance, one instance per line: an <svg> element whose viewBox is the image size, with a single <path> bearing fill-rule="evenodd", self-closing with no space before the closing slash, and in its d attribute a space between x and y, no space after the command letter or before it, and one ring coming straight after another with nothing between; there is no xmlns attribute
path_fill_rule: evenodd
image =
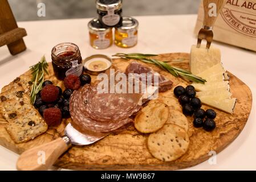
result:
<svg viewBox="0 0 256 182"><path fill-rule="evenodd" d="M190 71L197 75L208 68L221 62L221 51L213 46L206 49L205 46L197 48L192 46L190 53Z"/></svg>

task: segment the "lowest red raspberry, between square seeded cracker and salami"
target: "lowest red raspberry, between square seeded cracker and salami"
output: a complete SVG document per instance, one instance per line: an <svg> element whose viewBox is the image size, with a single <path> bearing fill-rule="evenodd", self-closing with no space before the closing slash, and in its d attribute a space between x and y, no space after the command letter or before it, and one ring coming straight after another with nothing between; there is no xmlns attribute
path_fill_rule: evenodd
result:
<svg viewBox="0 0 256 182"><path fill-rule="evenodd" d="M43 111L43 118L48 126L57 126L62 122L62 111L55 107L45 109Z"/></svg>

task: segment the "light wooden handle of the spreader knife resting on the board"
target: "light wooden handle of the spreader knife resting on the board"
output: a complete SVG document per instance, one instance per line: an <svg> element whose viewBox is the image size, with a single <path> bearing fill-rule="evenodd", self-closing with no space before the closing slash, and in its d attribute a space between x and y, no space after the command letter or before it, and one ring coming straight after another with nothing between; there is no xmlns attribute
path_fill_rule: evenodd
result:
<svg viewBox="0 0 256 182"><path fill-rule="evenodd" d="M47 170L67 150L68 144L63 138L31 148L19 156L17 169L21 171Z"/></svg>

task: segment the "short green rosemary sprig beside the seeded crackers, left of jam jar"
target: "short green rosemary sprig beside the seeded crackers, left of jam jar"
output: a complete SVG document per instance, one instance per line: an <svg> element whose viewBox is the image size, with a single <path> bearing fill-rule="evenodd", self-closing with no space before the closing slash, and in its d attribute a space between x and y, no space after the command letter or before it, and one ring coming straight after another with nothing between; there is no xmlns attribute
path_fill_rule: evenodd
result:
<svg viewBox="0 0 256 182"><path fill-rule="evenodd" d="M43 87L44 73L48 75L47 67L48 63L46 62L45 56L43 56L37 64L30 67L32 72L32 88L30 93L31 104L35 103L36 95Z"/></svg>

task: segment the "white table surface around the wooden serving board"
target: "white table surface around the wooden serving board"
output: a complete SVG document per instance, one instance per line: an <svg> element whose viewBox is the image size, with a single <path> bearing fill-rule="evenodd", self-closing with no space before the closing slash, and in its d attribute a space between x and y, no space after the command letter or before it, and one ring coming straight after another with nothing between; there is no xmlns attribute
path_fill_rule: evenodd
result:
<svg viewBox="0 0 256 182"><path fill-rule="evenodd" d="M190 52L197 39L193 35L196 15L138 16L139 43L123 49L112 46L96 50L88 43L87 23L90 19L47 20L18 22L26 28L27 51L11 56L7 47L0 48L0 88L36 64L42 55L51 61L51 48L58 43L72 42L79 46L83 57L95 53L113 55L117 52L170 53ZM230 38L231 39L231 38ZM225 68L245 82L256 97L256 53L245 49L213 42L222 52ZM242 133L224 151L217 155L217 164L207 161L189 170L255 170L256 169L256 117L255 100L249 120ZM18 155L0 146L0 170L15 170Z"/></svg>

